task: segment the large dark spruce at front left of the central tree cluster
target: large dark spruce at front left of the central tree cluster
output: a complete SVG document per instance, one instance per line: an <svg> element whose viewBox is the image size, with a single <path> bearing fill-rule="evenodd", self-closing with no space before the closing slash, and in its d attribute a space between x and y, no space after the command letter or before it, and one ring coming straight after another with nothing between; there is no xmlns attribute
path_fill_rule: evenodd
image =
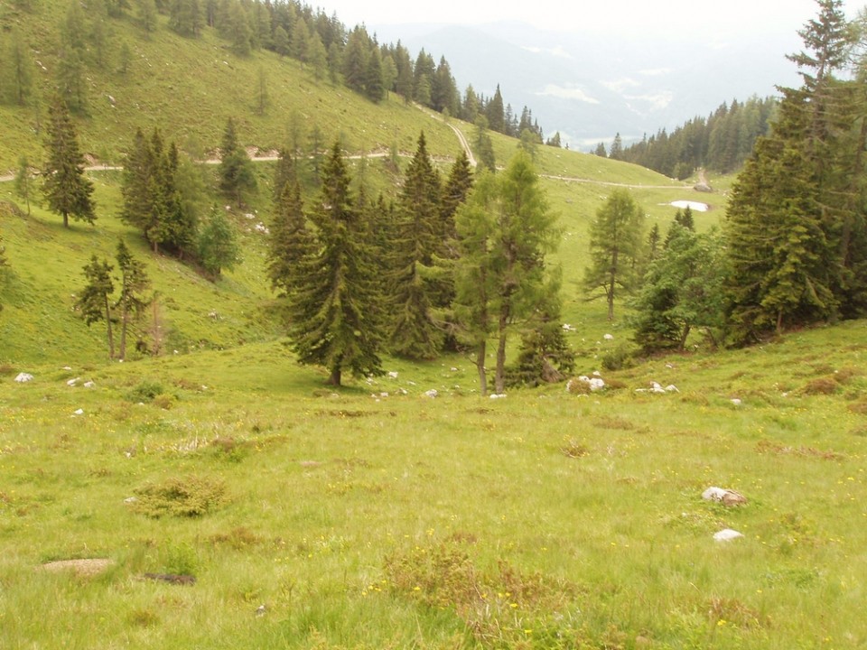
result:
<svg viewBox="0 0 867 650"><path fill-rule="evenodd" d="M383 374L383 339L376 266L368 224L350 194L350 173L335 143L322 170L322 190L312 206L315 253L303 261L290 296L289 337L298 361L321 365L328 383Z"/></svg>

